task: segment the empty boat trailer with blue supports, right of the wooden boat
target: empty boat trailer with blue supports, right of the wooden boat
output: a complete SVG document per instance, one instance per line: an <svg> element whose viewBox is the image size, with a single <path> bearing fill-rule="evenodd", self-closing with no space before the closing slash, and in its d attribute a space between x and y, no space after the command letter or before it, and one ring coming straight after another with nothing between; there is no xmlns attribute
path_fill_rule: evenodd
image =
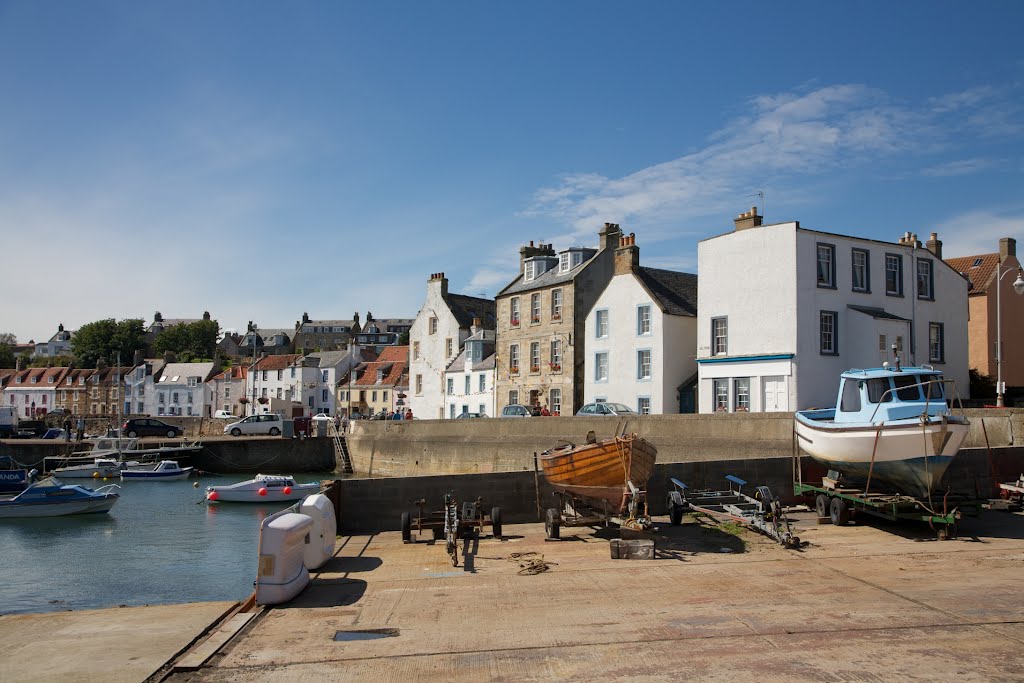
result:
<svg viewBox="0 0 1024 683"><path fill-rule="evenodd" d="M702 512L719 519L728 519L751 526L777 541L784 548L799 549L800 539L793 532L781 502L772 496L768 486L758 486L755 495L743 493L746 482L727 474L726 490L691 490L679 479L672 478L673 490L669 492L669 521L678 526L684 512Z"/></svg>

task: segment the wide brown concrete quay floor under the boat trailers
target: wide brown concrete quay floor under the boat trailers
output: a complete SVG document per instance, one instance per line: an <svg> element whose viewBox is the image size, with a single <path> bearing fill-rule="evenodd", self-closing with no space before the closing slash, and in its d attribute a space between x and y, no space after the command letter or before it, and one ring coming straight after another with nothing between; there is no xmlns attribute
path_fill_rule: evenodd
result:
<svg viewBox="0 0 1024 683"><path fill-rule="evenodd" d="M167 680L1021 680L1024 514L984 511L939 542L798 513L801 551L656 521L648 561L610 559L607 529L546 542L537 523L464 547L458 567L425 540L343 537L295 601ZM530 552L547 571L519 573ZM335 640L373 631L393 635Z"/></svg>

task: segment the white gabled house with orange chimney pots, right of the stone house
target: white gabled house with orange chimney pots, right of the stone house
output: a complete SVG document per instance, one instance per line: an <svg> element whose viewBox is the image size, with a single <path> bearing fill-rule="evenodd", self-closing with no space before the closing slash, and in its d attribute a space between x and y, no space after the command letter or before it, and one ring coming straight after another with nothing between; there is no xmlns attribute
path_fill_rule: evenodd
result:
<svg viewBox="0 0 1024 683"><path fill-rule="evenodd" d="M621 238L613 272L587 314L584 401L693 413L697 276L642 267L633 234Z"/></svg>

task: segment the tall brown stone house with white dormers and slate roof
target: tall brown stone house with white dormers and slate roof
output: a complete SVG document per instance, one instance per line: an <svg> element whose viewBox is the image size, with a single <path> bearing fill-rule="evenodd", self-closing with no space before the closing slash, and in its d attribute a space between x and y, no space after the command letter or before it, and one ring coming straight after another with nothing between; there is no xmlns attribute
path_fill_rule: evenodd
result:
<svg viewBox="0 0 1024 683"><path fill-rule="evenodd" d="M611 279L622 236L617 224L605 223L596 249L555 253L530 242L519 250L519 274L497 297L497 415L513 403L565 415L583 404L585 322Z"/></svg>

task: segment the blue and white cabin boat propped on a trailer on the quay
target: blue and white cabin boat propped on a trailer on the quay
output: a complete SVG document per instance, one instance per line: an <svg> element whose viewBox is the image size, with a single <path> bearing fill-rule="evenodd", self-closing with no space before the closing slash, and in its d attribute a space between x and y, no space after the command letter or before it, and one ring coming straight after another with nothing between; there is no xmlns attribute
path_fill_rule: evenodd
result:
<svg viewBox="0 0 1024 683"><path fill-rule="evenodd" d="M951 414L950 391L953 381L931 366L848 370L837 408L797 412L797 440L844 480L927 498L970 426Z"/></svg>

